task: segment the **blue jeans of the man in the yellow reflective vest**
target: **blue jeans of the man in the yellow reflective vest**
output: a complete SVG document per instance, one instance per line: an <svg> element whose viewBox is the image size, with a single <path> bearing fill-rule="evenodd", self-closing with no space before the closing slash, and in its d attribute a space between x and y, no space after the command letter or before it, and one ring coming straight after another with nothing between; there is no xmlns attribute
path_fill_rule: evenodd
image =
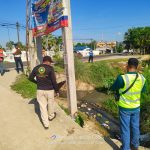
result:
<svg viewBox="0 0 150 150"><path fill-rule="evenodd" d="M122 150L130 150L130 145L138 148L140 139L140 108L124 110L119 108Z"/></svg>

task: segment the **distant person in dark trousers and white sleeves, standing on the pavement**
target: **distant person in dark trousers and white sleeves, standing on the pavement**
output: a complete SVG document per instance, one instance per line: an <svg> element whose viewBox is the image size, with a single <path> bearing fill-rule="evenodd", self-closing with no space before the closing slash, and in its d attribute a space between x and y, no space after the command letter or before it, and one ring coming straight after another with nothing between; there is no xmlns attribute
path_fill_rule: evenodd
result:
<svg viewBox="0 0 150 150"><path fill-rule="evenodd" d="M24 72L23 62L22 62L22 59L21 59L22 52L21 52L21 49L20 49L18 44L14 44L12 53L14 55L14 60L15 60L15 63L16 63L16 71L17 71L17 73L19 73L19 71L20 71L19 65L21 67L21 72Z"/></svg>

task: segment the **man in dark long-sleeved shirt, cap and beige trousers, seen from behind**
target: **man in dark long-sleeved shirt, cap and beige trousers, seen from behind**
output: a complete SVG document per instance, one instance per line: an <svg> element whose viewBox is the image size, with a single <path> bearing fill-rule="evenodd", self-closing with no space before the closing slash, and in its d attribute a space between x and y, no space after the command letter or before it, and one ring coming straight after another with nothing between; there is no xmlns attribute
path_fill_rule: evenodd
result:
<svg viewBox="0 0 150 150"><path fill-rule="evenodd" d="M43 63L36 66L29 76L29 80L37 84L37 101L45 129L49 128L49 121L56 117L54 94L56 93L56 96L59 96L56 76L51 66L52 62L50 56L45 56Z"/></svg>

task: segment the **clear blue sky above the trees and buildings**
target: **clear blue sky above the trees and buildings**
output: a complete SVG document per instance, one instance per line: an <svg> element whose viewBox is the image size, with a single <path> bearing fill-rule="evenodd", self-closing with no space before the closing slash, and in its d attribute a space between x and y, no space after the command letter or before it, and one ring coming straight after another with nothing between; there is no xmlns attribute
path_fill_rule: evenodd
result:
<svg viewBox="0 0 150 150"><path fill-rule="evenodd" d="M0 23L25 25L26 0L0 0ZM122 41L132 27L150 26L150 0L71 0L73 39L76 42ZM17 41L16 29L0 26L0 44ZM59 35L60 31L53 34ZM25 43L25 30L20 30Z"/></svg>

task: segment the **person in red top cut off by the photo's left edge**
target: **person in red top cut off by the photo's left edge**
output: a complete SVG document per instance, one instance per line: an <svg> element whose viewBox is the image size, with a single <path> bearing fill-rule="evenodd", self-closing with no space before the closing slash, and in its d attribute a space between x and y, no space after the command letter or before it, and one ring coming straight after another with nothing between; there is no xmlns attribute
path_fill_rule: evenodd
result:
<svg viewBox="0 0 150 150"><path fill-rule="evenodd" d="M4 58L7 57L5 51L1 48L0 49L0 73L1 76L4 75L5 71L4 71Z"/></svg>

